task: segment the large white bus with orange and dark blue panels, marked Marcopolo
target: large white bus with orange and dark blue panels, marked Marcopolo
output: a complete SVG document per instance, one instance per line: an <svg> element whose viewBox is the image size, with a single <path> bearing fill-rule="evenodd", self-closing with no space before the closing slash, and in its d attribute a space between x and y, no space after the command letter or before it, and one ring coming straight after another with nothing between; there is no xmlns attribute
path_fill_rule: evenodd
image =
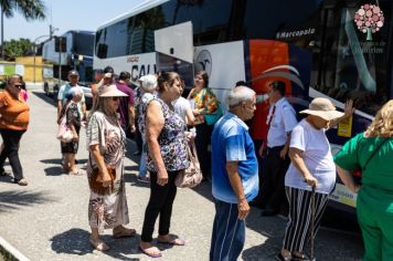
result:
<svg viewBox="0 0 393 261"><path fill-rule="evenodd" d="M146 1L97 29L94 67L129 71L134 81L158 70L176 70L190 87L193 72L204 70L222 102L237 81L263 94L273 79L286 82L296 109L316 96L331 98L339 108L352 98L353 118L328 132L336 153L392 97L392 3L380 0L382 27L369 24L364 30L355 17L364 2ZM266 132L267 106L259 104L253 118L256 143ZM354 213L355 197L338 182L331 206Z"/></svg>

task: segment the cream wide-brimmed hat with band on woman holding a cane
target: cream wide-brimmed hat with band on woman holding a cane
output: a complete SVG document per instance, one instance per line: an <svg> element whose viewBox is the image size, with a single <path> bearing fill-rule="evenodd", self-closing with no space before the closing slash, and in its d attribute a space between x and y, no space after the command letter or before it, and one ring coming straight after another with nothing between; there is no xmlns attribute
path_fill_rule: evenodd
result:
<svg viewBox="0 0 393 261"><path fill-rule="evenodd" d="M301 114L316 115L326 121L342 117L344 114L336 111L334 105L328 98L317 97L311 101L309 108L300 112Z"/></svg>

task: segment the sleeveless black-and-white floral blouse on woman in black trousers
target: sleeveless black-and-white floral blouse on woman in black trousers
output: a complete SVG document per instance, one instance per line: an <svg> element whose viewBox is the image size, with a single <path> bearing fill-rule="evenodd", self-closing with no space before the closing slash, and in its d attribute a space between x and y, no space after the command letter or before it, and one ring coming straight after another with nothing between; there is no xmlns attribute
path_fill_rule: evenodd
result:
<svg viewBox="0 0 393 261"><path fill-rule="evenodd" d="M181 117L171 111L160 98L155 97L161 105L164 124L158 137L160 153L167 171L177 171L189 167L190 161L187 156L187 142L184 137L185 124ZM150 102L151 102L150 101ZM157 173L153 160L148 153L147 168Z"/></svg>

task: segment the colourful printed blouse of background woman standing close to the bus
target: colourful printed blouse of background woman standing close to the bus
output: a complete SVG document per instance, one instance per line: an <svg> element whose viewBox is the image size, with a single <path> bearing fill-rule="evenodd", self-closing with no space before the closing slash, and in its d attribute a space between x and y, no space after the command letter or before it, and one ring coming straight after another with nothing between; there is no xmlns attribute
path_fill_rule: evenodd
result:
<svg viewBox="0 0 393 261"><path fill-rule="evenodd" d="M200 91L192 88L190 92L190 100L193 100L194 109L199 113L199 115L195 116L195 125L204 123L203 115L214 113L219 107L219 101L209 87Z"/></svg>

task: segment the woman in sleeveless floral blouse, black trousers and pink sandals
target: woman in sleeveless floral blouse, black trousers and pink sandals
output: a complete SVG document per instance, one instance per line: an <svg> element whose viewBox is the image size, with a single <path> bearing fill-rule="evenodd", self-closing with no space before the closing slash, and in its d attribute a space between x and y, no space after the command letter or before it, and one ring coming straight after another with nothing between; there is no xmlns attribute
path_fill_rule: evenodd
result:
<svg viewBox="0 0 393 261"><path fill-rule="evenodd" d="M169 233L172 205L177 192L174 179L189 167L185 124L173 112L172 101L180 96L181 80L174 72L162 72L158 77L158 96L147 104L146 139L147 168L150 171L150 199L145 212L140 250L151 258L161 257L153 247L152 233L160 215L158 242L183 246L184 241Z"/></svg>

